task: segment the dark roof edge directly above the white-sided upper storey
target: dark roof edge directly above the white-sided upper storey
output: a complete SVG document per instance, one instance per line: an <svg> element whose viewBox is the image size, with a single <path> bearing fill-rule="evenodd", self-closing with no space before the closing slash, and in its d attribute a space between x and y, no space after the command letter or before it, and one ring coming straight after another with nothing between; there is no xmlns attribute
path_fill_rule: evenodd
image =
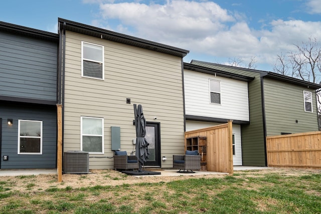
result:
<svg viewBox="0 0 321 214"><path fill-rule="evenodd" d="M217 69L207 68L199 65L193 65L190 63L184 63L184 69L202 72L206 74L213 74L213 75L215 74L216 76L226 77L226 78L241 80L246 82L252 81L254 79L254 77L248 77L248 76L243 76L243 75L234 74L230 72L220 71Z"/></svg>

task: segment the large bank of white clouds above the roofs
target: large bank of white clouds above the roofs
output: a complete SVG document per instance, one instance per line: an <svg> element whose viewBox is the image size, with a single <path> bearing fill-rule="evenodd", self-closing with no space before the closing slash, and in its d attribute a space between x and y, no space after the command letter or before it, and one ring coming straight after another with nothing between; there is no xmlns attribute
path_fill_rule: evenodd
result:
<svg viewBox="0 0 321 214"><path fill-rule="evenodd" d="M314 4L313 1L309 4ZM321 22L300 20L274 20L268 24L269 30L255 30L246 23L244 14L231 13L213 2L106 3L100 4L100 10L102 20L96 20L95 26L184 48L190 54L210 55L213 59L239 57L246 61L255 56L258 64L273 65L277 54L321 35ZM112 25L112 21L117 24Z"/></svg>

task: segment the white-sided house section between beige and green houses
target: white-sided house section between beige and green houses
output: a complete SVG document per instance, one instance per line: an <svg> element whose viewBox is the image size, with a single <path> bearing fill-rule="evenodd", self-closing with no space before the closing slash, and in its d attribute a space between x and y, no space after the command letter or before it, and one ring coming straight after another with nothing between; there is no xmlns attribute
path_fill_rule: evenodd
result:
<svg viewBox="0 0 321 214"><path fill-rule="evenodd" d="M186 131L233 120L233 165L242 165L241 129L250 123L248 82L253 79L184 63Z"/></svg>

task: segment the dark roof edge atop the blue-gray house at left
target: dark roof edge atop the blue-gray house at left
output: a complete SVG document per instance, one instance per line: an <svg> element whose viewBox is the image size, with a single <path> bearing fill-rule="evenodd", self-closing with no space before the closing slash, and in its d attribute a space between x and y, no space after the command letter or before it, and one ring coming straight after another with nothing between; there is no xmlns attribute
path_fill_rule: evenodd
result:
<svg viewBox="0 0 321 214"><path fill-rule="evenodd" d="M14 24L1 22L1 21L0 21L0 31L18 34L18 35L27 36L27 37L33 37L41 40L52 41L52 42L59 41L58 34L41 31L33 28L28 28L24 26L14 25Z"/></svg>

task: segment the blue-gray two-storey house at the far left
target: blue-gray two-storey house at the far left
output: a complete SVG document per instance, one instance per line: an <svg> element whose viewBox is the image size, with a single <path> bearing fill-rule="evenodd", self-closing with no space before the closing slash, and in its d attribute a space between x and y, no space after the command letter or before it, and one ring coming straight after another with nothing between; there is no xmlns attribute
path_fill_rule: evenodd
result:
<svg viewBox="0 0 321 214"><path fill-rule="evenodd" d="M56 168L58 34L0 22L0 168Z"/></svg>

